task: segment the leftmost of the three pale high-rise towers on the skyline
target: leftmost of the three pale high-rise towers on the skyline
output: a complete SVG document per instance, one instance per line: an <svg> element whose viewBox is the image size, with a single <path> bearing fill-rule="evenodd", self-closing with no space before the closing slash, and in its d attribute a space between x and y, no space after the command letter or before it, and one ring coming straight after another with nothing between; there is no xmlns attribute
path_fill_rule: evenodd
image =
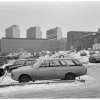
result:
<svg viewBox="0 0 100 100"><path fill-rule="evenodd" d="M18 25L12 25L5 30L6 38L20 38L20 29Z"/></svg>

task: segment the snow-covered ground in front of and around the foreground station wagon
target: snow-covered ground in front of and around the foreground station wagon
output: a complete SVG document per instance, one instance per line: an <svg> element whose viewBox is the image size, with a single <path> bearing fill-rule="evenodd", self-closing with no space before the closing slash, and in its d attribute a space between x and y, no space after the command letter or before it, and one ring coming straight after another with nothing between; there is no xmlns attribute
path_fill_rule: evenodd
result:
<svg viewBox="0 0 100 100"><path fill-rule="evenodd" d="M88 62L89 56L80 56L80 54L78 53L74 55L74 57L79 59L81 62ZM75 96L77 95L76 93L78 94L82 93L82 90L84 89L88 89L89 90L88 93L89 93L94 90L94 89L91 90L90 86L93 88L96 87L97 89L99 89L100 87L97 87L97 84L100 84L100 78L99 78L100 64L88 62L84 65L87 67L87 75L81 76L81 79L85 80L85 83L77 81L78 78L76 78L76 81L74 82L58 82L58 81L54 82L51 80L45 80L45 81L35 82L35 83L42 83L42 84L25 84L25 85L15 85L15 86L3 87L3 88L1 87L0 88L0 98L20 98L20 97L21 98L44 97L45 98L47 96L48 97L50 96L59 97L60 96L63 98L63 96L65 96L64 95L65 93L66 95L71 95L72 93L72 96L73 95ZM11 79L10 74L7 74L6 77L4 77L3 81L2 81L2 78L3 77L1 77L0 79L0 85L18 83ZM80 89L81 89L81 92L80 92ZM86 95L85 93L87 93L87 91L85 91L83 95ZM92 96L93 94L89 94L89 96L90 95Z"/></svg>

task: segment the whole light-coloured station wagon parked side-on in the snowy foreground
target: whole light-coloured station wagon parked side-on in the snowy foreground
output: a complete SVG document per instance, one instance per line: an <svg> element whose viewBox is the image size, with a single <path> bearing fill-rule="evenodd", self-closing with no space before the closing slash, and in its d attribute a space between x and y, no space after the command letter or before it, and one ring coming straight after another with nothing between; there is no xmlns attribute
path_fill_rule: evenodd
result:
<svg viewBox="0 0 100 100"><path fill-rule="evenodd" d="M48 79L75 80L75 77L86 73L87 69L77 59L48 58L39 60L32 66L12 70L11 77L22 83Z"/></svg>

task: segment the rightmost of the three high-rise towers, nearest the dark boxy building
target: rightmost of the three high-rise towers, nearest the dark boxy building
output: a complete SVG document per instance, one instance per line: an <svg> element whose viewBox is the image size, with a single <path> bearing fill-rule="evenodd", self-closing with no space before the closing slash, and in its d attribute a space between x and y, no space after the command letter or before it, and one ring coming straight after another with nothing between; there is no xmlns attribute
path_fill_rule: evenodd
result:
<svg viewBox="0 0 100 100"><path fill-rule="evenodd" d="M61 28L56 27L46 31L47 39L50 40L60 40L62 39L62 31Z"/></svg>

